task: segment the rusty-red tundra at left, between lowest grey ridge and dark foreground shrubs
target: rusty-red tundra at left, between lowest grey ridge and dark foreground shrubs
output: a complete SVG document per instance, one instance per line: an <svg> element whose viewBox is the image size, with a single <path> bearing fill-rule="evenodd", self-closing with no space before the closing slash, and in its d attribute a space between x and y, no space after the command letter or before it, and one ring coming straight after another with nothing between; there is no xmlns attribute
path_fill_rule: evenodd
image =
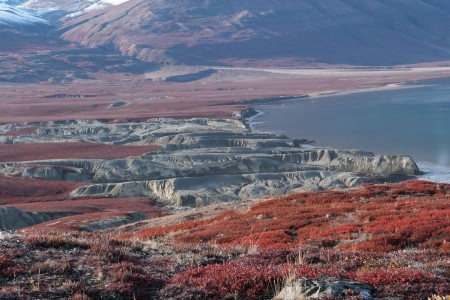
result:
<svg viewBox="0 0 450 300"><path fill-rule="evenodd" d="M167 214L165 209L147 198L70 199L70 192L83 184L0 175L0 208L13 206L28 212L74 214L39 224L36 229L84 230L85 226L127 219L130 212L139 212L148 218Z"/></svg>

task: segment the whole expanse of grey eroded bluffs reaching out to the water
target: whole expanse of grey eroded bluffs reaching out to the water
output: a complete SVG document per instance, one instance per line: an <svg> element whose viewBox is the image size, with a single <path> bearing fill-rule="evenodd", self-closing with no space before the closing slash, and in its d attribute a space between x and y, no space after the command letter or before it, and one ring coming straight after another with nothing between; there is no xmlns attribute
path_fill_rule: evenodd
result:
<svg viewBox="0 0 450 300"><path fill-rule="evenodd" d="M36 129L22 136L2 135L26 126ZM0 127L3 143L62 141L162 148L123 159L3 162L0 172L86 182L71 192L73 198L149 197L178 206L348 188L419 173L409 157L303 147L302 140L255 133L238 120L64 121Z"/></svg>

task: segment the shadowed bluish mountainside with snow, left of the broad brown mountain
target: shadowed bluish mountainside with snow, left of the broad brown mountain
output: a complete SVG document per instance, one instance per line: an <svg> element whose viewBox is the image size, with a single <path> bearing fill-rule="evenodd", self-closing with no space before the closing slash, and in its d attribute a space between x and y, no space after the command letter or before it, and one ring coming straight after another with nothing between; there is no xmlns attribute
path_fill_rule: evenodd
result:
<svg viewBox="0 0 450 300"><path fill-rule="evenodd" d="M118 4L114 1L86 3ZM27 3L36 7L22 8ZM55 32L58 19L72 12L64 11L64 7L71 9L75 4L75 0L0 0L0 83L70 82L90 78L91 72L140 73L153 68L151 63L109 49L82 48L61 40Z"/></svg>

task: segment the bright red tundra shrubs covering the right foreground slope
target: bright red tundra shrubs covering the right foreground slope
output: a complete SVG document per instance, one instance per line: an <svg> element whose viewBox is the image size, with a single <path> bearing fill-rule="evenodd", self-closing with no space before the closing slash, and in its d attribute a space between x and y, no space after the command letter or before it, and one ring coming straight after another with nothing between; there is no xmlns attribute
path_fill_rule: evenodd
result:
<svg viewBox="0 0 450 300"><path fill-rule="evenodd" d="M359 280L373 285L380 297L426 299L450 292L450 267L443 266L450 257L450 185L414 181L367 184L350 192L300 193L261 202L246 212L228 211L209 220L120 237L133 235L170 236L180 245L240 247L267 255L267 260L253 255L246 257L251 261L240 258L178 273L164 289L166 296L201 291L214 299L268 298L267 286L287 273ZM296 263L280 261L280 253L294 255ZM411 255L414 258L408 258ZM443 269L430 271L437 265Z"/></svg>

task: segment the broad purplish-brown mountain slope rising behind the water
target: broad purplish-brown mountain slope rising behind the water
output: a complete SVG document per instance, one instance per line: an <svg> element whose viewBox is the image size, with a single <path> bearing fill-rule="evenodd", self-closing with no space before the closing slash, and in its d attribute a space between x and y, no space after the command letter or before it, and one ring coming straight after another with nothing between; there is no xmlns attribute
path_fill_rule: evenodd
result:
<svg viewBox="0 0 450 300"><path fill-rule="evenodd" d="M143 60L389 65L450 59L447 0L131 0L62 37Z"/></svg>

